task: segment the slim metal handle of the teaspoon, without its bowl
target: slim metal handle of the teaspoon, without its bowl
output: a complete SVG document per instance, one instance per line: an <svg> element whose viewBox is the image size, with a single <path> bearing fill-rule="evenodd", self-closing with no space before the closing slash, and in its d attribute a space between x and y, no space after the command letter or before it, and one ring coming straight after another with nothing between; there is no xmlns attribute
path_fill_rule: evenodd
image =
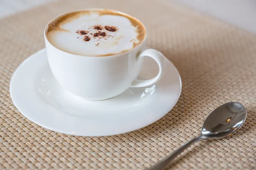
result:
<svg viewBox="0 0 256 170"><path fill-rule="evenodd" d="M166 158L164 158L163 160L161 160L160 162L158 162L157 164L154 164L154 166L148 168L148 170L162 170L164 167L166 167L172 160L175 159L176 156L178 156L183 150L185 150L187 147L189 147L191 144L198 142L200 140L203 140L204 137L202 137L201 135L198 137L195 137L194 139L192 139L191 141L187 142L186 144L184 144L182 147L180 147L179 149L175 150L171 155L166 156Z"/></svg>

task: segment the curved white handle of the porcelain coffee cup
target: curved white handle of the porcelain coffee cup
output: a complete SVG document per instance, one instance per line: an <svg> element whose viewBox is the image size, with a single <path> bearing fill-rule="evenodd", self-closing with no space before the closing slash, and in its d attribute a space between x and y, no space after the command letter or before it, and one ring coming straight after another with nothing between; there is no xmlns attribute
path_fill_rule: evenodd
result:
<svg viewBox="0 0 256 170"><path fill-rule="evenodd" d="M157 51L155 49L146 49L139 54L138 59L141 57L151 57L152 59L154 59L158 64L159 73L153 79L149 79L149 80L137 80L136 79L136 80L134 80L134 82L130 86L132 88L145 87L145 86L152 85L152 84L158 82L158 80L160 80L163 77L163 74L166 70L166 58L159 51Z"/></svg>

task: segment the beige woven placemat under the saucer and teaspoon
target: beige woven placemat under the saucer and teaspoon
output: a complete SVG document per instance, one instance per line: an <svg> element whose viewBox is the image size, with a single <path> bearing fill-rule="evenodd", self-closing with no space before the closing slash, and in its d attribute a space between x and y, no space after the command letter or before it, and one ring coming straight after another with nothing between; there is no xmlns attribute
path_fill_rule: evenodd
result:
<svg viewBox="0 0 256 170"><path fill-rule="evenodd" d="M79 137L36 125L13 105L12 73L44 48L47 23L58 14L91 7L114 8L140 19L147 27L148 46L180 71L181 97L162 119L121 135ZM146 169L197 136L218 105L236 101L248 111L242 128L225 139L193 144L169 168L252 170L255 95L256 35L172 1L61 0L0 20L0 169Z"/></svg>

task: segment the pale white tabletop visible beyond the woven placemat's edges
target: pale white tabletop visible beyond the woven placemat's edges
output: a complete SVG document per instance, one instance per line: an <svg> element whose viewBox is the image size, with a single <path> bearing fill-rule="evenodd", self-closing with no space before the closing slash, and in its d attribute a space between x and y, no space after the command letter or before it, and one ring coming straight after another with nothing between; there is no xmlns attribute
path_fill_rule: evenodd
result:
<svg viewBox="0 0 256 170"><path fill-rule="evenodd" d="M0 18L55 0L1 0ZM167 0L168 1L168 0ZM177 0L256 34L255 0Z"/></svg>

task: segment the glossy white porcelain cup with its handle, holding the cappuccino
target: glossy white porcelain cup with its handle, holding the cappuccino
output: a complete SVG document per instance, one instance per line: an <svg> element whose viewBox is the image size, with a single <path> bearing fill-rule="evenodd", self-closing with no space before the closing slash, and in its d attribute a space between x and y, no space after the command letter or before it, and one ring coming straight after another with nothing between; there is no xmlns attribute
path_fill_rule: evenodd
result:
<svg viewBox="0 0 256 170"><path fill-rule="evenodd" d="M47 40L46 29L44 39L55 79L64 89L84 99L109 99L130 87L152 85L160 80L166 70L163 54L155 49L145 49L146 36L140 45L130 51L105 57L81 56L62 51ZM143 57L151 57L159 66L159 73L153 79L137 80Z"/></svg>

